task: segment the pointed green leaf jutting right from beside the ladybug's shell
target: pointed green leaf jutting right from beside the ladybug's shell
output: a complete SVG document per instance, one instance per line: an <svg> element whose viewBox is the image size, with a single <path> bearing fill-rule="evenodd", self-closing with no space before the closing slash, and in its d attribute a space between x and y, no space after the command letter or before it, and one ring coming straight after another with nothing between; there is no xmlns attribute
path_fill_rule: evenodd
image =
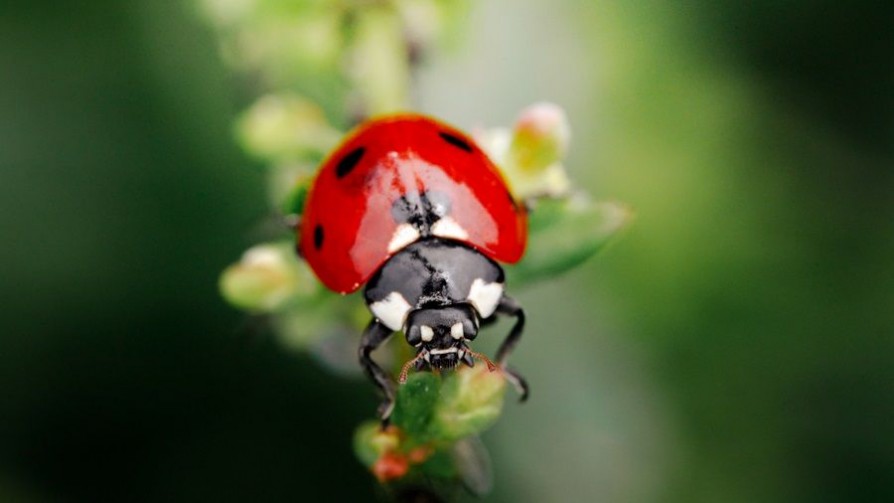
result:
<svg viewBox="0 0 894 503"><path fill-rule="evenodd" d="M524 258L506 267L509 283L530 283L577 267L602 249L630 216L630 210L613 202L578 197L540 201L529 219Z"/></svg>

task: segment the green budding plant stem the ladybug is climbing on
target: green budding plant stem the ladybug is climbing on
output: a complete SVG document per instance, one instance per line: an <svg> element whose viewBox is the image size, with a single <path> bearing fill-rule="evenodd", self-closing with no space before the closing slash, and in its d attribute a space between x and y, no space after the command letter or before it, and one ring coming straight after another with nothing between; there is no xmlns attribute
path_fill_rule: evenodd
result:
<svg viewBox="0 0 894 503"><path fill-rule="evenodd" d="M254 76L261 96L236 123L244 149L268 167L269 199L282 215L300 215L317 164L345 130L364 117L410 109L414 65L445 40L467 8L462 1L203 0L222 53ZM476 141L500 166L514 194L532 207L522 262L506 268L518 289L564 273L592 256L629 220L621 205L574 191L563 159L570 141L565 113L541 103L514 125L480 132ZM330 368L353 369L353 350L369 314L359 295L340 296L315 280L286 232L258 244L220 279L234 306L272 320L288 347ZM398 337L399 338L399 337ZM411 348L389 345L397 373ZM399 387L390 426L377 420L354 437L358 458L395 492L451 494L489 486L477 435L497 421L506 381L479 365L445 375L411 374Z"/></svg>

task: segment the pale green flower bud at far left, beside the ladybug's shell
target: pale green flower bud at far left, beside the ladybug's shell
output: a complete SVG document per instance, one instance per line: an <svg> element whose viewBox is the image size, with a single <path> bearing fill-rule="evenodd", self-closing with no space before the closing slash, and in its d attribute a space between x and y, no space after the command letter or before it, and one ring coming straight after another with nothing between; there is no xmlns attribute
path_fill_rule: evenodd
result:
<svg viewBox="0 0 894 503"><path fill-rule="evenodd" d="M316 292L317 284L292 246L262 244L247 250L226 268L220 291L236 307L252 312L273 312L290 300Z"/></svg>

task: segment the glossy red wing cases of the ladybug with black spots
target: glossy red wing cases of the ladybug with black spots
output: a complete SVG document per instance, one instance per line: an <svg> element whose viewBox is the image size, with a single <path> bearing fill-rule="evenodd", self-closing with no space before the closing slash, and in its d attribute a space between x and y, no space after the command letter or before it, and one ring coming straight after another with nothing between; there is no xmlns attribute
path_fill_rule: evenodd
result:
<svg viewBox="0 0 894 503"><path fill-rule="evenodd" d="M368 121L323 162L307 197L298 249L328 288L350 293L398 250L392 205L409 193L438 191L465 231L457 239L514 263L527 240L527 214L475 142L422 115Z"/></svg>

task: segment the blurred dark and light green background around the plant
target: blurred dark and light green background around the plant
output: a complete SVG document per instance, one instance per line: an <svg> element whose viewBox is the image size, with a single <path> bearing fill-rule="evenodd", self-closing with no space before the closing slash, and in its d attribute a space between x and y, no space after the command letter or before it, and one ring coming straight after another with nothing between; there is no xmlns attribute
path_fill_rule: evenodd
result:
<svg viewBox="0 0 894 503"><path fill-rule="evenodd" d="M419 108L555 101L572 177L637 212L517 292L533 397L485 435L490 501L894 500L891 19L475 3ZM0 6L0 501L371 498L369 384L217 293L268 216L244 87L186 2Z"/></svg>

